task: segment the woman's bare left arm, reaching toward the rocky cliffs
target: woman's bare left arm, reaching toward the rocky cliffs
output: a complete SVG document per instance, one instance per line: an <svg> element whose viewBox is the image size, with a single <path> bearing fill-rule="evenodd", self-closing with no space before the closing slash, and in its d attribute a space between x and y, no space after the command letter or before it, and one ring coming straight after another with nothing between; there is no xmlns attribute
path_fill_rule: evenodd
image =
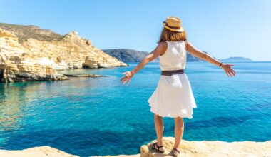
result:
<svg viewBox="0 0 271 157"><path fill-rule="evenodd" d="M145 58L133 70L123 73L125 76L121 78L121 82L123 84L127 82L128 85L134 74L140 71L140 69L143 69L148 62L153 61L153 59L156 59L158 56L160 56L160 54L164 54L167 47L168 44L166 42L160 42L158 46L150 54L148 54L148 56L145 56Z"/></svg>

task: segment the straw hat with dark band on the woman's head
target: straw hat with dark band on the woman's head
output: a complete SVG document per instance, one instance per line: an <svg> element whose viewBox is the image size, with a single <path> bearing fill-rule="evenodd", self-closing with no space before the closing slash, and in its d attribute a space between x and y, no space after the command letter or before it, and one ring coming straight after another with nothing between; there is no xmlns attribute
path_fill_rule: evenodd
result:
<svg viewBox="0 0 271 157"><path fill-rule="evenodd" d="M165 27L165 29L168 29L170 31L184 31L182 26L182 20L180 20L178 17L167 17L167 19L163 21L163 26Z"/></svg>

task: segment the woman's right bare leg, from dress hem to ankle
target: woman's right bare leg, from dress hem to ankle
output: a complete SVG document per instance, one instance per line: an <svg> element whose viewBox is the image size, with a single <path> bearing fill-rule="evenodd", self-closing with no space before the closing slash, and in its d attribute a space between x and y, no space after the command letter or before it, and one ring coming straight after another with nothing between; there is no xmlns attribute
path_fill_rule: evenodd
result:
<svg viewBox="0 0 271 157"><path fill-rule="evenodd" d="M180 141L183 138L184 123L182 117L174 118L175 120L175 143L173 148L178 148L180 146Z"/></svg>

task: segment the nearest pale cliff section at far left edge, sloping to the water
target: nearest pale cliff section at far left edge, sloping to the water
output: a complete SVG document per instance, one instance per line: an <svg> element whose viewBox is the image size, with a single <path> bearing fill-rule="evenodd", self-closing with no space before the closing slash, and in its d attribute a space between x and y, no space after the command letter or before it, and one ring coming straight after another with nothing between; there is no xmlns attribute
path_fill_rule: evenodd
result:
<svg viewBox="0 0 271 157"><path fill-rule="evenodd" d="M9 31L0 29L0 81L63 80L42 58L29 53Z"/></svg>

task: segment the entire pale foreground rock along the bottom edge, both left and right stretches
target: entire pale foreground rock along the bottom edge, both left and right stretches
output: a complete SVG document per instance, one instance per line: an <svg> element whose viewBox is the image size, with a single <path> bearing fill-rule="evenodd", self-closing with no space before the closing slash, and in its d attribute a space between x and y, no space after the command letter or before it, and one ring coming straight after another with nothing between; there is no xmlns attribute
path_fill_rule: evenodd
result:
<svg viewBox="0 0 271 157"><path fill-rule="evenodd" d="M150 143L153 143L151 141ZM161 154L157 151L151 151L148 145L143 145L140 148L140 154L134 155L118 155L116 157L171 157L170 150L174 145L173 137L163 138L163 145L165 146L165 153ZM180 143L180 156L185 157L245 157L245 156L257 156L267 157L271 154L271 141L266 142L223 142L223 141L185 141ZM0 156L14 157L14 156L73 156L71 154L59 151L49 146L41 146L35 148L24 149L21 151L6 151L0 150ZM109 156L108 156L109 157Z"/></svg>

